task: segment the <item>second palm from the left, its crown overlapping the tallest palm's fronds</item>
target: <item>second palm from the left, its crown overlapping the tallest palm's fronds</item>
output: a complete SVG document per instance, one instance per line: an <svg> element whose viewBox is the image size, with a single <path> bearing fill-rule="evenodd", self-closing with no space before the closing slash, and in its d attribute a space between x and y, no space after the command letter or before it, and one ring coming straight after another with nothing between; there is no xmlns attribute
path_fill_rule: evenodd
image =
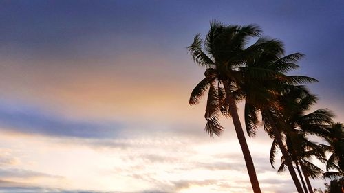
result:
<svg viewBox="0 0 344 193"><path fill-rule="evenodd" d="M261 49L256 57L246 61L246 67L241 70L241 76L245 77L244 82L240 82L241 91L246 96L245 123L248 135L255 135L257 124L259 124L258 115L261 113L264 128L270 130L269 134L275 137L298 192L303 192L303 190L292 166L292 159L283 144L283 135L273 117L283 110L283 106L278 101L283 93L288 93L295 87L301 87L296 86L298 84L316 81L306 76L285 75L290 69L299 67L296 62L302 56L300 53L284 56L283 44L279 41L266 44L266 48Z"/></svg>

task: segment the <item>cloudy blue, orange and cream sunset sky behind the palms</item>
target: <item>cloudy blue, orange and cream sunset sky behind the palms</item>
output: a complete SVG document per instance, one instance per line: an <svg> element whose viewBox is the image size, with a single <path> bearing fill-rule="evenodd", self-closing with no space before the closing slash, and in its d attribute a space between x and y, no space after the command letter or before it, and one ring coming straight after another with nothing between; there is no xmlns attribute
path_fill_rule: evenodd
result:
<svg viewBox="0 0 344 193"><path fill-rule="evenodd" d="M293 73L319 80L314 109L344 122L343 10L344 1L1 1L0 192L252 192L233 124L209 137L204 101L188 104L204 69L186 47L211 19L255 23L287 54L305 54ZM261 190L296 192L271 168L264 131L247 139Z"/></svg>

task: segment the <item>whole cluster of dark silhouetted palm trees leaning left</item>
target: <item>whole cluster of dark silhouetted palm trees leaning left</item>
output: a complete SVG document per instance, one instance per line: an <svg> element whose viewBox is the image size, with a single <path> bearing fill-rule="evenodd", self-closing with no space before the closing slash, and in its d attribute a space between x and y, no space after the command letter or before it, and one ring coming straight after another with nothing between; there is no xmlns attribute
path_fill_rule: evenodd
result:
<svg viewBox="0 0 344 193"><path fill-rule="evenodd" d="M248 45L250 38L257 41ZM266 130L273 139L272 167L279 148L283 156L278 171L288 169L299 193L313 192L310 178L343 178L343 124L334 123L328 109L309 112L317 98L305 84L316 79L289 74L299 67L303 54L285 55L283 43L262 37L257 25L224 25L219 21L211 21L204 41L197 34L188 49L195 63L206 68L205 78L193 89L189 103L197 104L208 91L205 130L211 136L224 130L219 123L221 115L232 118L255 193L261 190L237 113L240 101L245 102L248 136L254 137L259 126ZM317 144L310 135L327 143ZM325 163L326 170L316 166L314 159Z"/></svg>

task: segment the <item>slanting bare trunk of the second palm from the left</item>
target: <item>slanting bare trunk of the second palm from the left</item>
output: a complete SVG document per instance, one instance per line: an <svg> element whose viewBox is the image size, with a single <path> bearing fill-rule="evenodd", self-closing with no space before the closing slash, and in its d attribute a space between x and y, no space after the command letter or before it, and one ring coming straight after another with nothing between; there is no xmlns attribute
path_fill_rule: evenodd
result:
<svg viewBox="0 0 344 193"><path fill-rule="evenodd" d="M292 159L290 158L290 155L286 150L286 147L283 145L281 134L279 133L279 130L277 129L277 126L274 120L272 119L269 111L266 111L266 117L268 118L268 121L271 123L272 132L274 133L277 144L279 145L279 149L281 150L282 155L286 160L289 173L292 176L292 181L294 181L294 184L297 188L297 192L303 193L299 179L297 179L297 173L295 172L294 167L292 166Z"/></svg>

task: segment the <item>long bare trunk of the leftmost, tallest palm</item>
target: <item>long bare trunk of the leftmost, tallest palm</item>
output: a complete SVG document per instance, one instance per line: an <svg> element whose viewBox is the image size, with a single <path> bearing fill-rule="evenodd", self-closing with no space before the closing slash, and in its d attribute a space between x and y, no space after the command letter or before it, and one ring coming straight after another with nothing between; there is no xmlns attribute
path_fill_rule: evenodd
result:
<svg viewBox="0 0 344 193"><path fill-rule="evenodd" d="M226 95L228 96L230 115L232 116L235 133L237 133L237 139L239 140L239 144L240 144L242 153L244 155L246 169L248 172L248 176L250 177L250 183L252 185L253 192L261 193L261 190L259 187L259 181L257 179L257 174L255 171L255 165L253 164L250 150L248 149L248 145L247 145L246 138L244 135L244 130L242 130L239 115L237 113L237 105L235 104L235 100L231 96L231 93L228 88L228 82L224 82L224 88L226 90Z"/></svg>

